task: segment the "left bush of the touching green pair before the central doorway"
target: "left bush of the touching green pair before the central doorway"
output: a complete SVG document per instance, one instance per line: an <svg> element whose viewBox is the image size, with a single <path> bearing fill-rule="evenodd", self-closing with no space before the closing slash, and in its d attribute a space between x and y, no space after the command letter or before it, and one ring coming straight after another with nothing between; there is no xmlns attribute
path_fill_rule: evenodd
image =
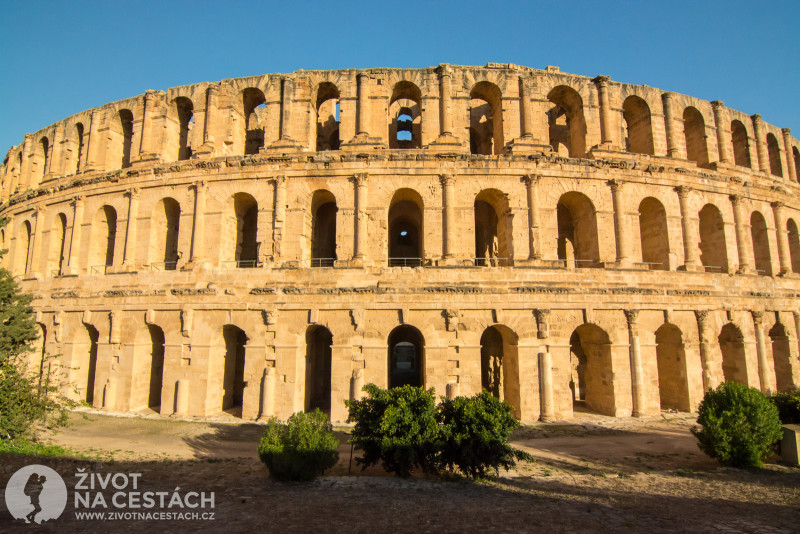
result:
<svg viewBox="0 0 800 534"><path fill-rule="evenodd" d="M364 469L382 461L384 469L399 477L409 476L414 466L435 473L441 433L433 389L386 390L367 384L364 391L365 399L345 401L349 419L356 423L350 441L364 453L356 461Z"/></svg>

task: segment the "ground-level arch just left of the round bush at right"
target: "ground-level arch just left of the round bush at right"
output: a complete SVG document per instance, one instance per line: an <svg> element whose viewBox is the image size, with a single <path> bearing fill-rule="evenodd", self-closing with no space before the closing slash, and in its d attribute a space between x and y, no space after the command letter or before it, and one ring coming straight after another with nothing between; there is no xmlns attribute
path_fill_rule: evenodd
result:
<svg viewBox="0 0 800 534"><path fill-rule="evenodd" d="M677 326L665 323L656 330L656 359L661 409L690 411L686 353L683 335Z"/></svg>

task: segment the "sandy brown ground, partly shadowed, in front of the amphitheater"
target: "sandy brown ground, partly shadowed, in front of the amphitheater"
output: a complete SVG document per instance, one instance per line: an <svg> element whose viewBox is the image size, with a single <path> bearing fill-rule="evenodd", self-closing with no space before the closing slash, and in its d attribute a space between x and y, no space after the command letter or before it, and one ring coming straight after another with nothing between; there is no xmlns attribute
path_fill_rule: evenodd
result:
<svg viewBox="0 0 800 534"><path fill-rule="evenodd" d="M215 493L213 520L79 519L72 502L46 532L800 532L800 468L722 468L697 448L687 414L644 420L579 414L524 427L515 446L531 464L480 483L350 469L340 461L310 483L269 479L256 447L262 427L78 412L48 439L100 461L38 460L70 489L75 473L142 473L144 491ZM0 457L0 483L31 459ZM0 532L28 531L0 502ZM185 510L184 510L185 511Z"/></svg>

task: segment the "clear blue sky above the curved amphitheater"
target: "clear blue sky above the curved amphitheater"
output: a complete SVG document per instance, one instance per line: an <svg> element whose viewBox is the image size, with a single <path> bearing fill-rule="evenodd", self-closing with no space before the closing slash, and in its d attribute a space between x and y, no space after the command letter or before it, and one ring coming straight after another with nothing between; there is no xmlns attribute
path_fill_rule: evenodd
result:
<svg viewBox="0 0 800 534"><path fill-rule="evenodd" d="M800 1L0 0L0 152L147 89L297 69L557 65L793 128Z"/></svg>

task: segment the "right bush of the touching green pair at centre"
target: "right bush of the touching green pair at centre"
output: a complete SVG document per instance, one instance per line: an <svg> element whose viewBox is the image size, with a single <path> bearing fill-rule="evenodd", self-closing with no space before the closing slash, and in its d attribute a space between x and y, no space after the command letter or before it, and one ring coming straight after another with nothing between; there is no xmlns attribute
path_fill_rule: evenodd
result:
<svg viewBox="0 0 800 534"><path fill-rule="evenodd" d="M446 469L457 467L478 478L496 474L500 467L510 469L517 459L532 460L508 444L511 431L519 426L511 407L485 389L474 397L442 398L439 421L444 436L439 464Z"/></svg>

